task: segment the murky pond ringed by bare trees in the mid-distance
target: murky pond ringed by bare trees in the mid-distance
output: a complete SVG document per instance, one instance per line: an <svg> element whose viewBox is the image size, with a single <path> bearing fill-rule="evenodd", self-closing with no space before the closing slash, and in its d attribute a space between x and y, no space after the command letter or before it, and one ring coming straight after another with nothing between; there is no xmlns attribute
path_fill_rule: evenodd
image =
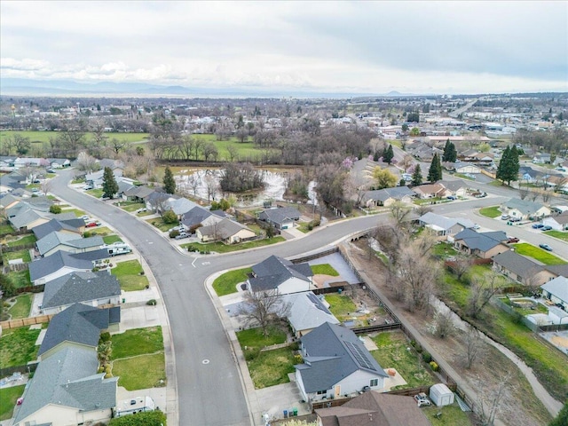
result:
<svg viewBox="0 0 568 426"><path fill-rule="evenodd" d="M195 195L204 200L208 198L208 185L215 188L213 199L220 201L233 195L237 199L236 207L262 206L264 201L284 201L288 171L261 170L263 173L264 188L248 193L224 193L219 186L222 170L200 169L200 170L180 170L176 175L177 187L183 193ZM309 201L316 198L313 188L315 182L310 182L308 186ZM317 204L317 201L316 201Z"/></svg>

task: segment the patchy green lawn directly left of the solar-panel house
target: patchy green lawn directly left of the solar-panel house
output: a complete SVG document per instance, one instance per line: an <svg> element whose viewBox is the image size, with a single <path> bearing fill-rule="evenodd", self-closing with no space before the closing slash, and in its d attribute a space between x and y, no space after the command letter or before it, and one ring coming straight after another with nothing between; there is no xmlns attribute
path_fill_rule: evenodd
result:
<svg viewBox="0 0 568 426"><path fill-rule="evenodd" d="M256 389L289 383L288 373L294 373L296 361L289 348L261 352L247 361L250 378Z"/></svg>

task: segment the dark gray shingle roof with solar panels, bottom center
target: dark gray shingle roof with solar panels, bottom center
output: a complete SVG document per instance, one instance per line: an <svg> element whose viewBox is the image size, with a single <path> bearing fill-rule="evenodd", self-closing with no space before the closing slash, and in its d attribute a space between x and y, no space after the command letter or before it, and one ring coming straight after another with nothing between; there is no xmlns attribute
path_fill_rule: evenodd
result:
<svg viewBox="0 0 568 426"><path fill-rule="evenodd" d="M349 328L326 322L300 340L306 356L296 368L308 393L331 389L358 370L388 376Z"/></svg>

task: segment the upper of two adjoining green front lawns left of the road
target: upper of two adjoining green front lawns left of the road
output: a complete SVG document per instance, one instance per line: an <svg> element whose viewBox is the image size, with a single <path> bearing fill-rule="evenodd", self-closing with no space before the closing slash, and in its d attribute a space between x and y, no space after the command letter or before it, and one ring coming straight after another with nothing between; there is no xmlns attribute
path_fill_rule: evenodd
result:
<svg viewBox="0 0 568 426"><path fill-rule="evenodd" d="M113 359L163 351L162 327L134 328L113 335Z"/></svg>

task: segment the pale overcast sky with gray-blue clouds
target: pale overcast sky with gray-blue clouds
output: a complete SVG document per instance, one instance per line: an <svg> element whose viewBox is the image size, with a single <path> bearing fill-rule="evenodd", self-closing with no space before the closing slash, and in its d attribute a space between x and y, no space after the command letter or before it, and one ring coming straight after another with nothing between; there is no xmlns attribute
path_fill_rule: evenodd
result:
<svg viewBox="0 0 568 426"><path fill-rule="evenodd" d="M351 93L568 91L568 2L0 2L5 77Z"/></svg>

